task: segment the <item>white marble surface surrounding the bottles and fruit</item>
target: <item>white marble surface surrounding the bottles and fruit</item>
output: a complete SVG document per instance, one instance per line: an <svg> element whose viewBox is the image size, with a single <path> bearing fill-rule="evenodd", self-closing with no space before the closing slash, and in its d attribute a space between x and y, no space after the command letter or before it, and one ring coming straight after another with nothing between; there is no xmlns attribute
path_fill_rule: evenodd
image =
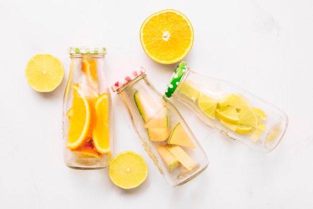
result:
<svg viewBox="0 0 313 209"><path fill-rule="evenodd" d="M126 108L113 102L113 156L141 154L148 177L123 190L108 168L75 170L62 160L62 97L70 46L107 48L108 85L143 66L163 92L176 67L150 60L139 41L142 22L175 9L194 29L184 59L191 70L230 81L279 107L287 131L270 153L255 151L205 126L171 100L203 146L209 166L171 187L145 153ZM313 1L54 0L0 2L0 208L312 208ZM37 53L58 57L64 79L51 93L32 90L24 77Z"/></svg>

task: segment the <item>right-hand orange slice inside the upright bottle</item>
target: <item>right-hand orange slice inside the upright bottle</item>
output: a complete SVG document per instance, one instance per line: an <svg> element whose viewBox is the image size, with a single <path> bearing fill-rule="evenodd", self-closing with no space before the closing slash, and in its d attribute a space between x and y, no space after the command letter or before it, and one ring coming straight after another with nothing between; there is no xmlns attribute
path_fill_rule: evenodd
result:
<svg viewBox="0 0 313 209"><path fill-rule="evenodd" d="M96 120L92 130L92 140L98 152L107 153L110 151L107 94L100 95L94 106Z"/></svg>

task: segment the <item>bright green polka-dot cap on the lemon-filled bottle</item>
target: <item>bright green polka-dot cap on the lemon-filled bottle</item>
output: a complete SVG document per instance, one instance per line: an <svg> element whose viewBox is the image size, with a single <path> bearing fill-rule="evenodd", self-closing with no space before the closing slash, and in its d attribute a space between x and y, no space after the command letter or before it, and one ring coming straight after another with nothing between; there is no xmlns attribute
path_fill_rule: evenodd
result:
<svg viewBox="0 0 313 209"><path fill-rule="evenodd" d="M179 81L181 80L185 70L187 69L187 63L185 62L180 62L177 66L177 68L175 69L173 75L171 76L171 80L169 82L169 84L166 87L165 93L164 95L166 97L171 97L171 95L174 93L174 91L176 90Z"/></svg>

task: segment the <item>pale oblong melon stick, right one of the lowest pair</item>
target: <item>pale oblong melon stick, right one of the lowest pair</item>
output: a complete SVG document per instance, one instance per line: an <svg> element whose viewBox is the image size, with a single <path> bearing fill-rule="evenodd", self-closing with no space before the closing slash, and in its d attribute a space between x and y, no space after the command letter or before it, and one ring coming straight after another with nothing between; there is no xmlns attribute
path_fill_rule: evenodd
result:
<svg viewBox="0 0 313 209"><path fill-rule="evenodd" d="M166 144L165 148L178 159L178 161L187 169L191 170L195 163L189 157L189 155L178 145L169 145Z"/></svg>

